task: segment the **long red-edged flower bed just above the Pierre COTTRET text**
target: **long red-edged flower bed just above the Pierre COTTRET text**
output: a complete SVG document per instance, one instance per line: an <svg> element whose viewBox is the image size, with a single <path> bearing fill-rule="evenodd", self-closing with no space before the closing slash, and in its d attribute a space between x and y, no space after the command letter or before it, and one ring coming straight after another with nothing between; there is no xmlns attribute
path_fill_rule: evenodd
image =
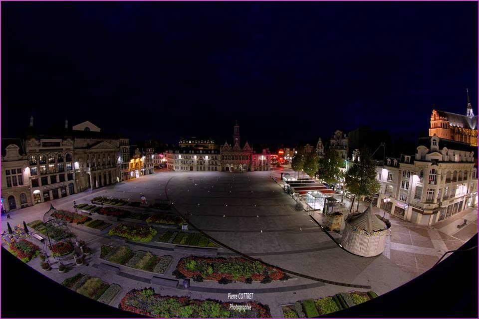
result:
<svg viewBox="0 0 479 319"><path fill-rule="evenodd" d="M176 266L177 278L197 278L201 276L206 280L220 280L226 278L230 281L252 281L263 283L270 280L286 278L283 271L265 266L259 261L249 261L244 258L210 258L210 257L183 257Z"/></svg>

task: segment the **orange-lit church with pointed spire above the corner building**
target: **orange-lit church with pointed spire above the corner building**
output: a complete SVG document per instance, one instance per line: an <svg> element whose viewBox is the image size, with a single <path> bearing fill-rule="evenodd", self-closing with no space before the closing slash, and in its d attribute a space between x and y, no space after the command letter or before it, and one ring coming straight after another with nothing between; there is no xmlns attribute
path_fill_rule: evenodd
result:
<svg viewBox="0 0 479 319"><path fill-rule="evenodd" d="M429 136L478 146L478 116L474 115L468 91L466 115L433 110Z"/></svg>

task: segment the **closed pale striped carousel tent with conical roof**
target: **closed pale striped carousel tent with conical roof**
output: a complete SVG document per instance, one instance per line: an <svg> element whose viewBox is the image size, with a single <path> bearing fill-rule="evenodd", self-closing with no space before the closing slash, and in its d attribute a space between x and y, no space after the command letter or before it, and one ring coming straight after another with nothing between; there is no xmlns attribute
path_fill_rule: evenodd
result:
<svg viewBox="0 0 479 319"><path fill-rule="evenodd" d="M373 212L372 204L363 213L351 214L346 220L341 245L347 251L364 257L372 257L384 251L386 236L391 223Z"/></svg>

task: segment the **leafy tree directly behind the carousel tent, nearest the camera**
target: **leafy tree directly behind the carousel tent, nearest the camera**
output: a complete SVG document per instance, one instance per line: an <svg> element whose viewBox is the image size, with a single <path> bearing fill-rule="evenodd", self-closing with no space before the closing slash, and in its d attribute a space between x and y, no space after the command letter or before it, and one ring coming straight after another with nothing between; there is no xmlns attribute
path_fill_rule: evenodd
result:
<svg viewBox="0 0 479 319"><path fill-rule="evenodd" d="M372 160L369 150L363 147L360 160L354 161L346 173L345 184L349 191L358 197L376 194L381 186L376 176L376 163ZM359 210L359 198L356 210Z"/></svg>

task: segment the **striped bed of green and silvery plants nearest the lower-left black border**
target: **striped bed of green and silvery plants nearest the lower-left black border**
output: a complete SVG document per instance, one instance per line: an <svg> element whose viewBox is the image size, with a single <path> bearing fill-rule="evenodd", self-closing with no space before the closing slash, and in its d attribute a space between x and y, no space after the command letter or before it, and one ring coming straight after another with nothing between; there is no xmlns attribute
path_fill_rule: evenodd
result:
<svg viewBox="0 0 479 319"><path fill-rule="evenodd" d="M83 296L98 300L104 304L111 303L121 290L121 287L116 284L110 285L101 281L100 278L84 274L76 274L73 277L69 277L61 284Z"/></svg>

